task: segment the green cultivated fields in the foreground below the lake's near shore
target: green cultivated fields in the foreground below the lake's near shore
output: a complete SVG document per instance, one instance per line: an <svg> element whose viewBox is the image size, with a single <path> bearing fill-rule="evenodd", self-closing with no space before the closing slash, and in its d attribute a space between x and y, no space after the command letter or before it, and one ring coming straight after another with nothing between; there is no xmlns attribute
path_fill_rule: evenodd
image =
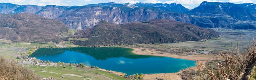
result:
<svg viewBox="0 0 256 80"><path fill-rule="evenodd" d="M53 77L57 80L126 80L126 78L96 70L90 67L73 67L64 66L50 67L50 66L27 66L34 70L35 73L42 77Z"/></svg>

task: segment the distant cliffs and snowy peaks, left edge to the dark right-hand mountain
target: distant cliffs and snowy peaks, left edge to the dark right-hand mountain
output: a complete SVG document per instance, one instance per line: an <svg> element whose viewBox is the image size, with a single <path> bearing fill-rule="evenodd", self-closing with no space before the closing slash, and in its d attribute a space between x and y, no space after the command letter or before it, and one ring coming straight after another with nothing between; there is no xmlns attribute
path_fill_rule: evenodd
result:
<svg viewBox="0 0 256 80"><path fill-rule="evenodd" d="M132 21L148 21L150 19L155 19L158 16L161 16L162 13L171 14L171 15L168 15L168 14L164 14L164 15L169 16L168 18L172 20L178 19L177 21L189 22L189 20L187 19L181 20L183 16L179 16L179 15L186 15L181 13L188 11L188 9L182 6L181 4L176 4L176 3L171 3L171 4L99 3L99 4L91 4L91 5L84 5L84 6L56 6L56 5L46 5L46 6L24 5L24 6L30 6L30 8L31 7L42 8L39 11L34 10L37 12L30 11L30 13L34 13L34 14L43 16L45 18L60 20L64 22L67 26L74 29L86 29L89 27L93 27L101 19L104 19L109 22L113 22L115 24L123 24L123 23L132 22ZM5 8L4 10L10 10L9 14L14 14L14 13L22 12L20 10L24 8L21 8L20 10L18 9L19 7L24 7L24 6ZM19 12L15 12L12 10L19 11ZM112 12L112 11L116 11L116 12ZM29 12L29 11L24 11L24 12ZM129 14L129 13L133 13L133 14ZM86 16L89 14L91 16ZM178 16L173 16L173 14L176 14ZM75 19L72 19L72 18L75 18Z"/></svg>

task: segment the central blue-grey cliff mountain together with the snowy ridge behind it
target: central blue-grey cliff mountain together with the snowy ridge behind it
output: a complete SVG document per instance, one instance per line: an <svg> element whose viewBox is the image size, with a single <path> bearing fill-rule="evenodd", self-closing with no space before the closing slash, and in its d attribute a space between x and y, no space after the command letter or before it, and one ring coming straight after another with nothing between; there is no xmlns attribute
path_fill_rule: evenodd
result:
<svg viewBox="0 0 256 80"><path fill-rule="evenodd" d="M168 8L166 8L168 6ZM169 8L170 7L170 8ZM181 13L164 13L157 8L163 8L164 11L175 10L181 7L180 4L145 4L145 3L101 3L85 6L72 6L68 8L58 20L75 29L86 29L98 24L104 20L115 24L123 24L133 21L148 21L156 18L168 18L172 20L190 22L189 16ZM185 12L186 8L178 8L176 12ZM174 12L175 12L174 11Z"/></svg>

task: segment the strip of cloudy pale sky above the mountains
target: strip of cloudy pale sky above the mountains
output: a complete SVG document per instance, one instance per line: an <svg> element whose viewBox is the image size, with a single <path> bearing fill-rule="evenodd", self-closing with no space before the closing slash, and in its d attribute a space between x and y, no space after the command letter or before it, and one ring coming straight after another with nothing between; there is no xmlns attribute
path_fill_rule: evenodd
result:
<svg viewBox="0 0 256 80"><path fill-rule="evenodd" d="M65 6L82 6L88 4L97 3L181 3L183 6L189 9L197 7L203 1L208 2L231 2L231 3L256 3L256 0L0 0L2 3L13 3L18 5L65 5Z"/></svg>

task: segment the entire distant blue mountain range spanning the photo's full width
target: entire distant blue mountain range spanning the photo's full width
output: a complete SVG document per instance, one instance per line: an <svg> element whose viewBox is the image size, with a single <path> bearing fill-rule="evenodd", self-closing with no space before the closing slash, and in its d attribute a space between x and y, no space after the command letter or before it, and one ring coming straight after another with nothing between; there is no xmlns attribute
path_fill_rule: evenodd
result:
<svg viewBox="0 0 256 80"><path fill-rule="evenodd" d="M256 29L256 5L253 3L234 4L204 1L192 10L176 3L120 4L111 2L84 6L27 5L27 7L6 4L0 5L0 13L34 13L45 18L62 21L73 29L93 27L102 19L115 24L133 21L144 22L150 19L170 19L205 28ZM40 10L40 8L42 9Z"/></svg>

